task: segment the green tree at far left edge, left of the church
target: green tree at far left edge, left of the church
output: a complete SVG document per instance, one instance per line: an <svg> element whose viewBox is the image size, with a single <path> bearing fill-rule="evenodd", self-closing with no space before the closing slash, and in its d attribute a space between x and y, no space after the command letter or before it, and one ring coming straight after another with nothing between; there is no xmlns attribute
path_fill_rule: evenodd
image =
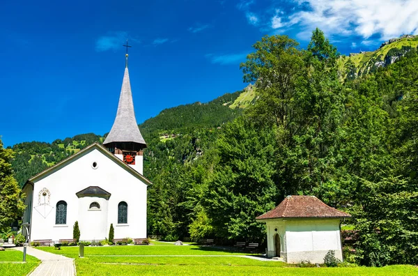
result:
<svg viewBox="0 0 418 276"><path fill-rule="evenodd" d="M13 151L3 148L0 139L0 231L20 219L25 208L24 195L13 177L12 158Z"/></svg>

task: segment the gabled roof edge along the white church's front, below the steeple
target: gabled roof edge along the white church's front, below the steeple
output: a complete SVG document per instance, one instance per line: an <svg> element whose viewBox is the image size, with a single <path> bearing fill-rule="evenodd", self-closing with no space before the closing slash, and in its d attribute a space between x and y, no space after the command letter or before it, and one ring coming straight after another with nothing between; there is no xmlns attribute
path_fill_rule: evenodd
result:
<svg viewBox="0 0 418 276"><path fill-rule="evenodd" d="M26 184L28 184L28 183L33 184L33 182L36 182L36 181L38 181L42 178L45 178L45 177L49 176L49 174L52 174L55 171L58 171L59 169L65 167L67 164L70 164L72 162L72 160L77 160L78 158L82 157L83 155L89 153L90 151L93 151L93 149L97 149L98 151L100 151L101 153L106 155L111 160L114 160L114 162L116 162L121 167L123 167L126 171L130 172L130 174L132 174L133 176L135 176L136 178L141 180L144 184L146 184L146 185L152 185L153 184L148 178L146 178L142 174L139 174L139 172L136 171L135 169L133 169L132 167L130 167L130 165L125 164L125 162L123 162L121 159L117 158L113 153L108 151L107 148L104 148L104 146L100 145L98 142L94 142L90 146L86 146L86 148L83 148L78 153L70 155L68 158L65 158L61 162L56 163L54 166L49 167L49 168L45 169L44 171L41 171L39 174L36 174L35 176L32 176L31 178L29 178L28 181L26 181L26 183L23 185L22 189L26 186Z"/></svg>

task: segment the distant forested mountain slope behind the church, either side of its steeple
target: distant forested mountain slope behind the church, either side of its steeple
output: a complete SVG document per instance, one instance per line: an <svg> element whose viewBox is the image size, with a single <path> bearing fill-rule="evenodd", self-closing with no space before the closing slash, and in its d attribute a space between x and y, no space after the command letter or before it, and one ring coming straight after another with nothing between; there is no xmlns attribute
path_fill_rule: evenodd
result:
<svg viewBox="0 0 418 276"><path fill-rule="evenodd" d="M164 159L168 158L165 156L167 148L171 148L176 151L172 157L183 161L193 160L196 156L200 156L202 154L201 143L203 141L206 144L210 143L215 139L213 135L217 128L242 113L244 106L241 108L230 107L235 104L238 98L243 98L241 95L245 93L247 91L226 93L210 102L195 102L162 110L157 116L149 118L139 125L148 144L146 153L153 156L161 155L161 158ZM199 137L193 136L193 133L199 133ZM22 186L31 176L53 166L69 155L77 153L89 144L95 141L102 143L106 135L88 133L56 139L52 143L31 141L15 144L12 147L15 151L12 165L17 182ZM192 136L193 145L192 148L189 148L189 139ZM165 143L174 138L176 141ZM154 158L154 160L156 159Z"/></svg>

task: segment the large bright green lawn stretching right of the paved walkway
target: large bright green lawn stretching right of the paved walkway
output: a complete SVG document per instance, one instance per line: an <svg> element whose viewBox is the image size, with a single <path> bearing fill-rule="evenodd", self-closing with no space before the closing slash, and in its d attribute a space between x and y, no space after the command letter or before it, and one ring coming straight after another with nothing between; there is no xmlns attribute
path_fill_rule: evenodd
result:
<svg viewBox="0 0 418 276"><path fill-rule="evenodd" d="M279 261L258 261L242 253L196 245L85 247L84 259L78 247L38 247L40 250L75 258L77 275L417 275L414 266L385 268L297 268ZM107 256L111 255L111 256ZM118 256L119 255L119 256ZM134 256L123 256L134 255ZM160 256L145 256L160 255ZM162 256L164 255L164 256ZM194 256L167 256L194 255ZM222 256L197 256L222 255Z"/></svg>

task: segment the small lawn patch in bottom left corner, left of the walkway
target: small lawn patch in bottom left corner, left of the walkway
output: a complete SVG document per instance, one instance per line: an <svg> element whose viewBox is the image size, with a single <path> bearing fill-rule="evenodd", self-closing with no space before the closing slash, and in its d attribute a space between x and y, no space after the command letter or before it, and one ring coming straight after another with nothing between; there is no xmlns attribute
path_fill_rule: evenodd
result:
<svg viewBox="0 0 418 276"><path fill-rule="evenodd" d="M26 263L4 263L8 261L22 261L23 253L17 250L0 251L0 275L27 275L40 261L33 256L26 255Z"/></svg>

